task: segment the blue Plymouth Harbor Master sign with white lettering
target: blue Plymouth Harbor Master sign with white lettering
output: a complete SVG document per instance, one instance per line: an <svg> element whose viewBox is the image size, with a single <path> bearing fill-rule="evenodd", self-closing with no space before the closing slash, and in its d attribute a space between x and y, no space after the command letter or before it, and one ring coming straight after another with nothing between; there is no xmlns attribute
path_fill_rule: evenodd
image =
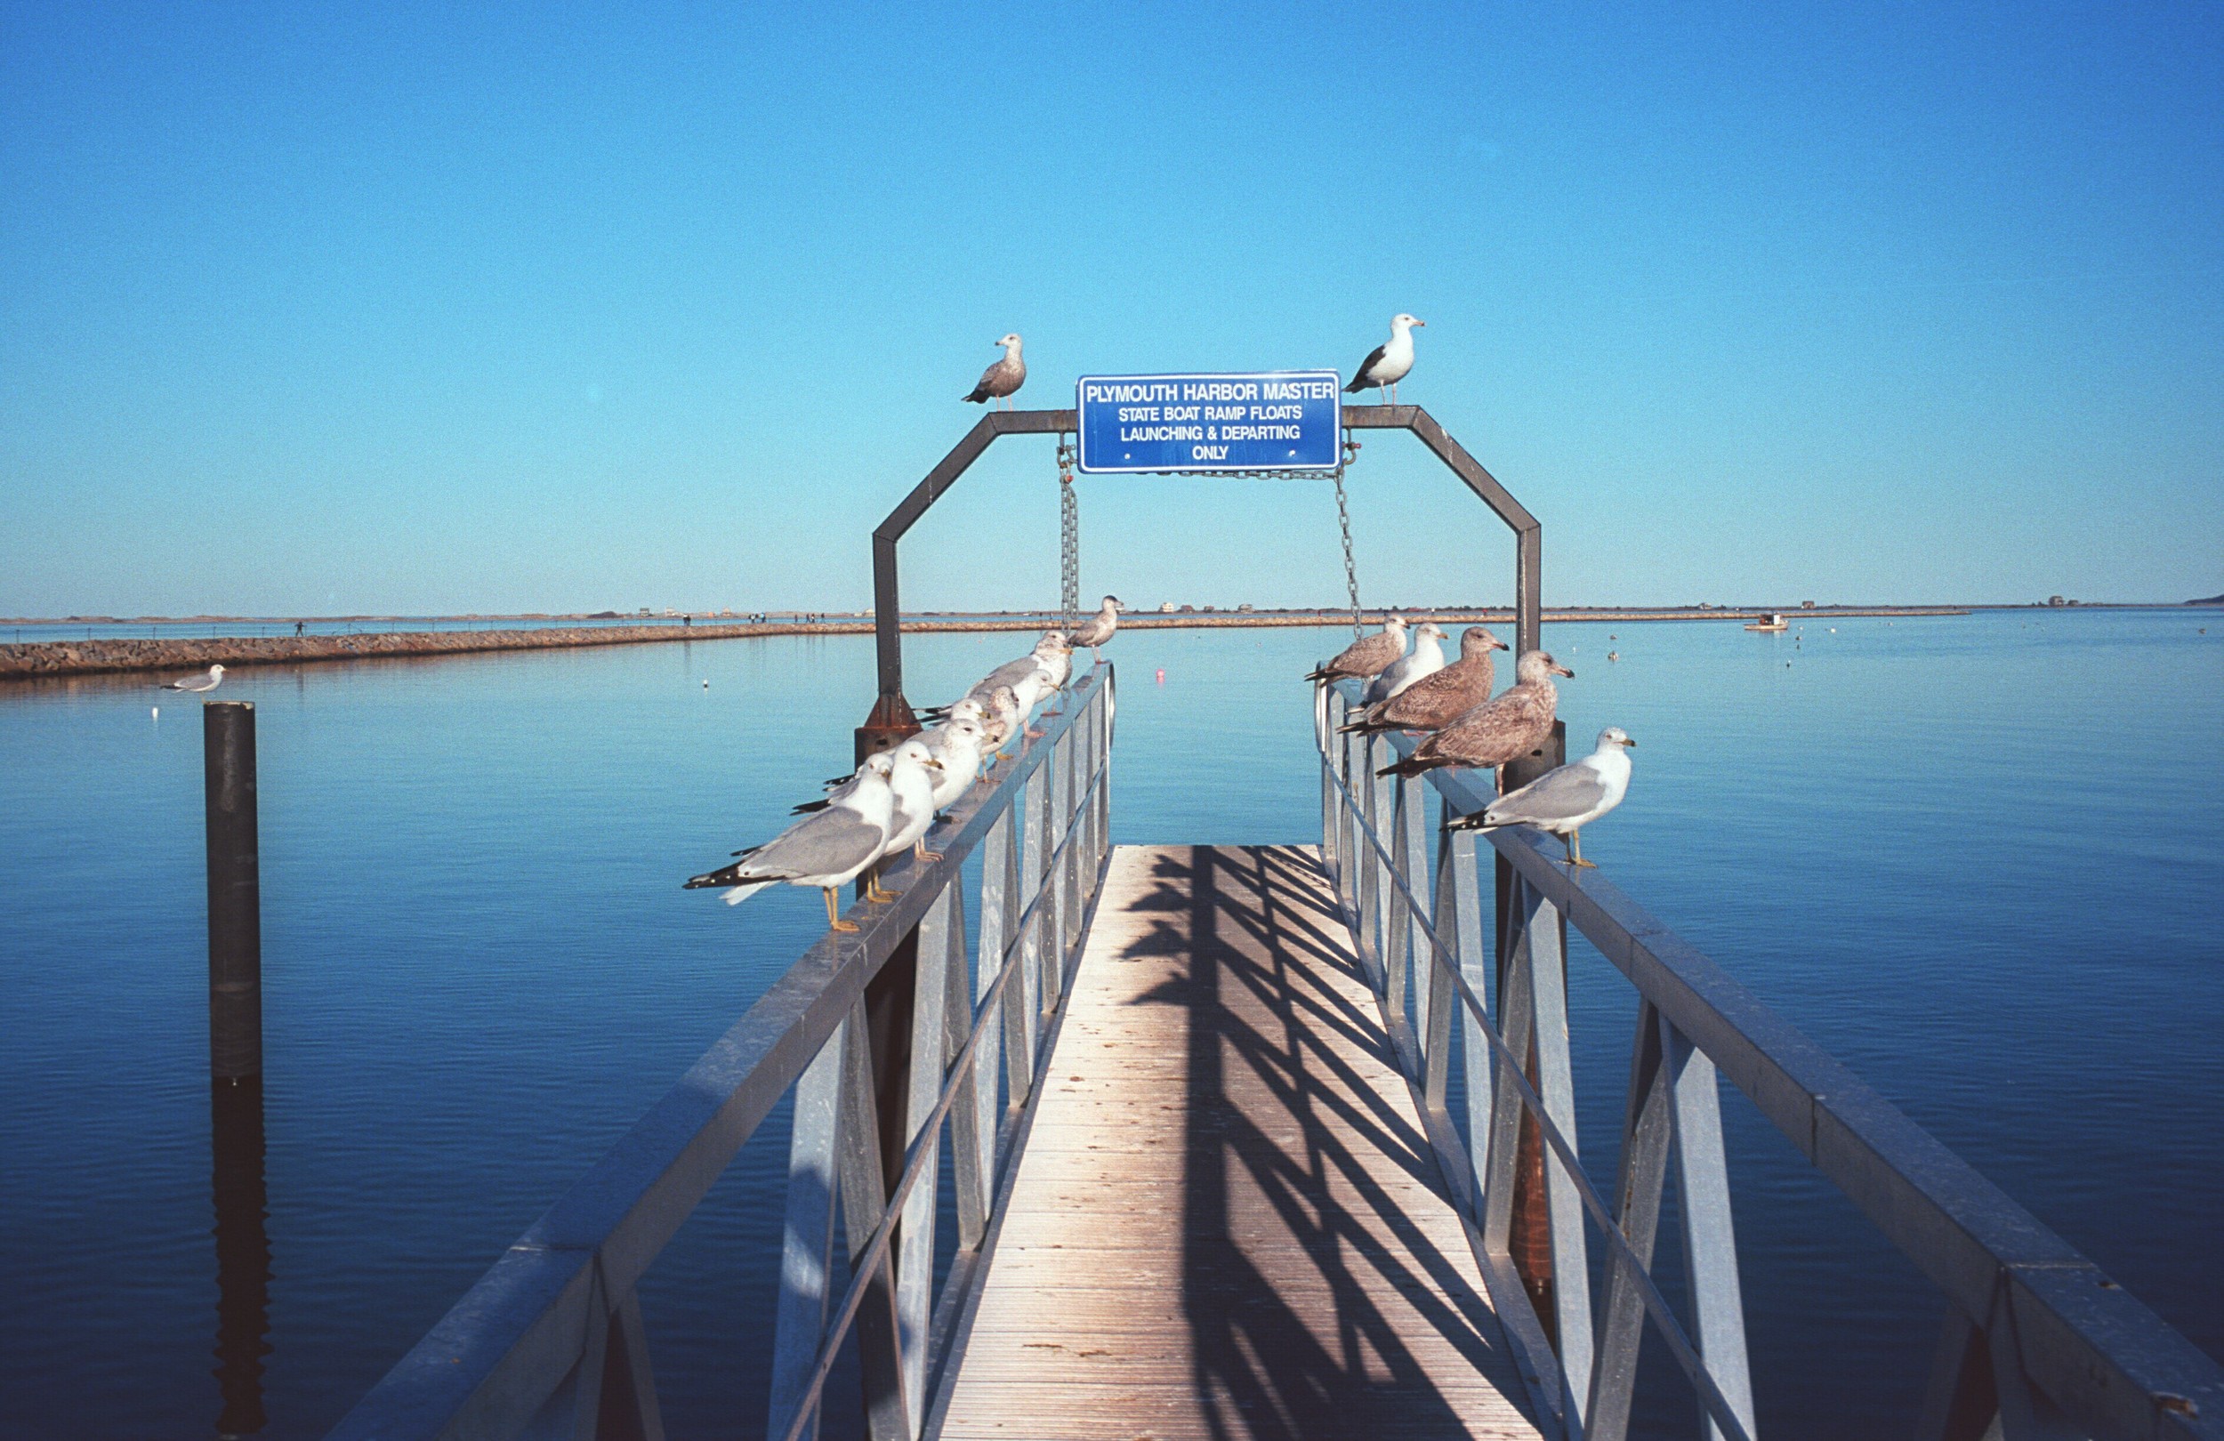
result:
<svg viewBox="0 0 2224 1441"><path fill-rule="evenodd" d="M1343 443L1337 371L1083 376L1081 469L1334 469Z"/></svg>

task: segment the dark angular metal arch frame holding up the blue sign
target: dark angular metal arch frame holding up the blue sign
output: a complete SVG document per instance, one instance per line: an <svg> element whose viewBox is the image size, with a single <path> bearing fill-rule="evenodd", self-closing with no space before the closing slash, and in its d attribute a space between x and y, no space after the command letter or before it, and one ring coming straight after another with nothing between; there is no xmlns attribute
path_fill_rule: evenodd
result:
<svg viewBox="0 0 2224 1441"><path fill-rule="evenodd" d="M903 698L903 607L896 596L896 543L903 534L959 483L972 463L1003 436L1061 436L1074 434L1081 420L1072 409L1041 411L990 411L965 438L950 447L950 454L927 471L927 478L912 487L887 520L872 531L872 638L881 665L881 694L872 714L858 729L858 758L894 736L919 729L910 700ZM1528 514L1499 478L1483 469L1483 463L1452 438L1419 405L1346 405L1343 429L1406 429L1421 438L1439 460L1461 480L1490 511L1515 531L1515 654L1539 647L1543 623L1543 525Z"/></svg>

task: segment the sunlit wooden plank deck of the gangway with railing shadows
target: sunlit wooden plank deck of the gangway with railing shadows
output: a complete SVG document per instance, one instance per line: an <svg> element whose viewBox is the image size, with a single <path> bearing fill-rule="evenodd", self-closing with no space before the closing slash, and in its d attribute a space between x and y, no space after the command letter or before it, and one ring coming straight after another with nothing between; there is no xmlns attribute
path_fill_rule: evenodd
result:
<svg viewBox="0 0 2224 1441"><path fill-rule="evenodd" d="M1119 847L936 1434L1535 1437L1303 847Z"/></svg>

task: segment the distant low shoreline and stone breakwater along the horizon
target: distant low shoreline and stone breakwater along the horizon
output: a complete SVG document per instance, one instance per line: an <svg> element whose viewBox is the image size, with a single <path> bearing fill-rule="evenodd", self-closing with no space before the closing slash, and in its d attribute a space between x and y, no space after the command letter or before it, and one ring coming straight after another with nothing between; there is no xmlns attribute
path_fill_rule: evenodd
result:
<svg viewBox="0 0 2224 1441"><path fill-rule="evenodd" d="M1817 605L1815 609L1781 607L1568 607L1546 609L1548 625L1579 623L1650 623L1650 620L1735 620L1746 623L1770 612L1799 620L1861 618L1861 616L1966 616L1979 609L2068 609L2046 605ZM2075 609L2180 609L2177 605L2079 605ZM1379 625L1388 616L1406 620L1437 620L1450 625L1510 625L1512 612L1503 607L1475 609L1368 609L1366 620ZM574 616L438 616L438 620L567 620ZM576 616L587 618L587 616ZM603 618L603 616L596 616ZM167 618L102 618L73 616L67 620L24 620L22 625L160 625ZM307 616L302 618L307 620ZM320 623L351 620L376 623L378 616L318 616ZM431 616L409 616L398 620L427 623ZM169 620L180 623L180 620ZM189 616L182 623L278 623L269 616ZM282 620L291 625L289 620ZM9 625L0 620L0 625ZM1259 629L1259 627L1330 627L1350 625L1348 609L1252 609L1252 612L1136 612L1121 616L1125 629ZM1043 627L1041 612L981 612L981 614L919 614L903 620L905 634L963 634L963 632L1034 632ZM543 629L456 629L456 632L360 632L345 636L202 636L202 638L133 638L109 636L96 640L24 640L0 643L0 680L47 680L67 676L133 674L133 672L193 672L209 665L225 669L256 665L325 665L336 660L423 660L436 656L485 656L496 652L529 649L576 649L589 645L654 645L674 640L747 640L765 636L858 636L872 634L872 620L858 616L827 616L818 620L776 618L761 623L709 620L694 625L583 625Z"/></svg>

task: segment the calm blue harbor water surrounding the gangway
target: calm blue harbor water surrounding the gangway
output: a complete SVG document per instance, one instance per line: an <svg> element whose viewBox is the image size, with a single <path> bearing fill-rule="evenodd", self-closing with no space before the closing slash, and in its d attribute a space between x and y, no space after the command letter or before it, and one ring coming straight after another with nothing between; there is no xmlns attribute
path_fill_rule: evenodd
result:
<svg viewBox="0 0 2224 1441"><path fill-rule="evenodd" d="M1317 838L1297 676L1341 643L1121 636L1114 836ZM260 727L262 1434L320 1434L818 934L814 894L736 912L678 881L845 769L870 645L227 678ZM1570 741L1639 741L1586 856L2224 1354L2217 616L1548 645L1577 669ZM1016 649L914 636L910 692ZM211 1434L222 1405L196 709L131 680L0 689L4 1437ZM1581 1139L1610 1176L1635 998L1572 965ZM1761 1430L1904 1428L1937 1299L1741 1099L1726 1114ZM767 1125L645 1288L674 1434L761 1425L783 1143Z"/></svg>

